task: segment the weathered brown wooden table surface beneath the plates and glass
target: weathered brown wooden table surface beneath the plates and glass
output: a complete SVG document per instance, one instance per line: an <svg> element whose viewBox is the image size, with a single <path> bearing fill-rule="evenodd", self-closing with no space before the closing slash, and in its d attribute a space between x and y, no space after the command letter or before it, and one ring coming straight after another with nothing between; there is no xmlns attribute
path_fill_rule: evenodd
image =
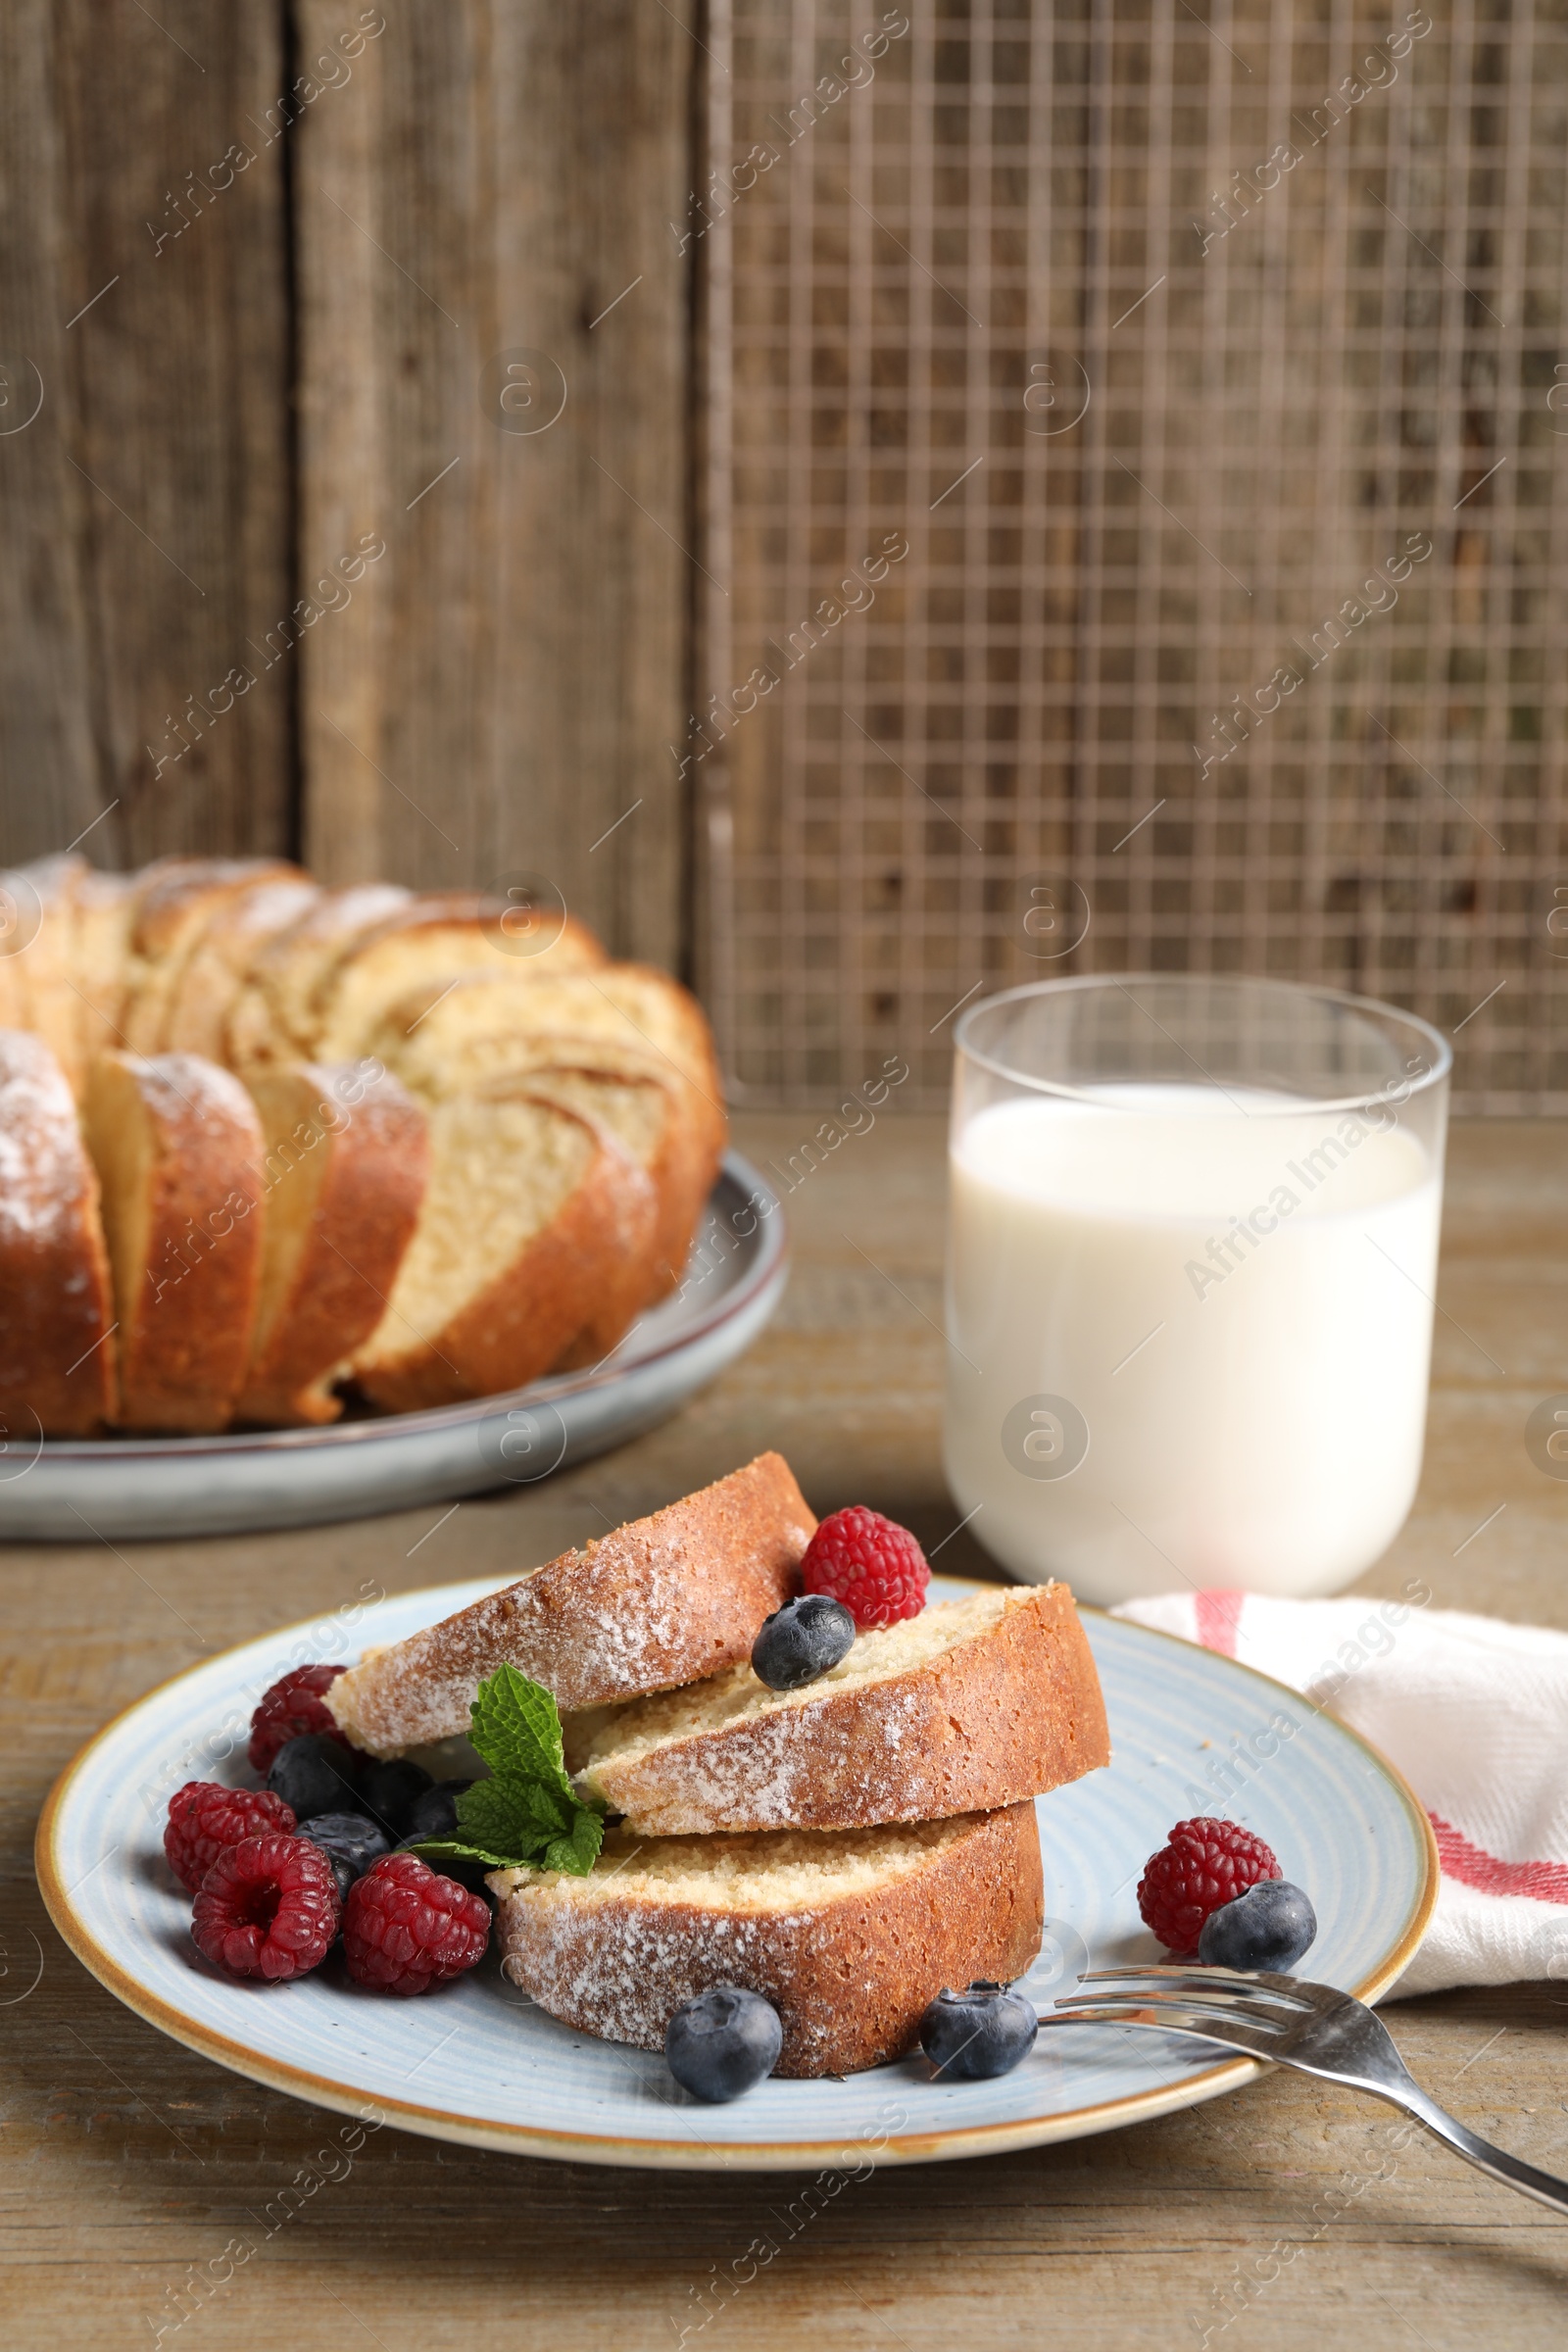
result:
<svg viewBox="0 0 1568 2352"><path fill-rule="evenodd" d="M811 1127L804 1112L743 1117L738 1141L783 1164ZM1568 1127L1455 1134L1427 1472L1366 1592L1418 1571L1441 1604L1568 1625L1563 1489L1521 1442L1528 1409L1568 1390L1566 1197ZM108 1715L207 1649L348 1602L364 1578L397 1590L522 1571L764 1446L792 1461L818 1512L867 1501L929 1545L947 1536L938 1122L889 1117L846 1141L790 1218L792 1289L752 1355L663 1430L545 1486L465 1503L435 1534L440 1510L423 1510L0 1557L9 2352L675 2347L710 2265L741 2256L797 2192L790 2176L538 2164L386 2129L233 2284L181 2300L336 2119L122 2009L56 1940L31 1867L45 1790ZM943 1569L994 1573L966 1534ZM1429 1997L1392 2023L1458 2114L1568 2173L1568 1983ZM1389 2119L1276 2074L1107 2138L875 2173L703 2333L752 2347L799 2345L811 2328L867 2352L1559 2345L1568 2227L1420 2136L1387 2157Z"/></svg>

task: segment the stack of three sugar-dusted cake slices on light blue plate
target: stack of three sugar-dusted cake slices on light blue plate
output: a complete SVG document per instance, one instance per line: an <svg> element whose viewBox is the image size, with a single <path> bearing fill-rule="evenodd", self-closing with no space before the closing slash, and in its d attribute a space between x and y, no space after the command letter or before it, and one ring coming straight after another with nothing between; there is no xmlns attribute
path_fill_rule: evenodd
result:
<svg viewBox="0 0 1568 2352"><path fill-rule="evenodd" d="M1065 1585L983 1588L860 1635L771 1691L762 1621L816 1531L778 1454L425 1632L327 1703L376 1757L468 1729L503 1663L562 1710L567 1766L611 1816L588 1877L498 1870L508 1978L607 2042L663 2049L710 1985L764 1994L780 2074L914 2046L943 1985L1023 1976L1044 1886L1034 1797L1110 1762Z"/></svg>

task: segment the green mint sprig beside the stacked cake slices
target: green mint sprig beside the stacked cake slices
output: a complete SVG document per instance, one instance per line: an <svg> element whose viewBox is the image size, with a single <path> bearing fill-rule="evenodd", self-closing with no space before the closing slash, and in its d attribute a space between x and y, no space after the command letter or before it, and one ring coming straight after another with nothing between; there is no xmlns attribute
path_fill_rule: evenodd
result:
<svg viewBox="0 0 1568 2352"><path fill-rule="evenodd" d="M491 1778L456 1802L461 1837L423 1839L423 1856L494 1870L567 1870L585 1879L604 1844L604 1813L583 1804L567 1776L562 1719L541 1682L498 1665L470 1708L470 1740Z"/></svg>

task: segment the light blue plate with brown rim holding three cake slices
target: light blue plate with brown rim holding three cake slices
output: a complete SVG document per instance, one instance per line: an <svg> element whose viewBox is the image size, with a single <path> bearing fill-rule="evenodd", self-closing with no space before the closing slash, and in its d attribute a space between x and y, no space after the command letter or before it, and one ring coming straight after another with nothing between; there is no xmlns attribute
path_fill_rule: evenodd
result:
<svg viewBox="0 0 1568 2352"><path fill-rule="evenodd" d="M856 2169L1030 2147L1190 2107L1251 2082L1175 2034L1084 2025L1041 2034L999 2082L933 2084L922 2058L849 2082L764 2082L703 2107L663 2058L590 2042L522 1999L494 1959L442 1992L393 2002L336 1962L296 1985L221 1980L188 1938L190 1900L162 1858L169 1795L244 1780L249 1712L289 1663L397 1642L491 1585L440 1585L341 1623L289 1625L190 1668L101 1731L38 1825L56 1929L101 1983L176 2042L322 2107L374 2107L407 2131L592 2164ZM969 1590L936 1581L933 1599ZM1173 1820L1225 1809L1258 1830L1321 1922L1307 1971L1387 1990L1436 1898L1427 1816L1354 1731L1295 1691L1168 1635L1086 1613L1114 1764L1039 1804L1048 1929L1025 1980L1044 2002L1084 1966L1154 1959L1135 1884ZM336 1644L336 1646L334 1646ZM1225 1762L1244 1752L1251 1764Z"/></svg>

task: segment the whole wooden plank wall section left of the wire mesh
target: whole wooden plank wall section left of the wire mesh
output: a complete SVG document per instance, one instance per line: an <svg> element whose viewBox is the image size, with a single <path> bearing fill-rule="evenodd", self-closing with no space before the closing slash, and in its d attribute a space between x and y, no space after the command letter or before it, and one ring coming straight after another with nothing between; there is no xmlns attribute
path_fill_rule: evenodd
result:
<svg viewBox="0 0 1568 2352"><path fill-rule="evenodd" d="M0 858L113 804L99 863L529 873L682 960L693 59L646 0L14 0Z"/></svg>

